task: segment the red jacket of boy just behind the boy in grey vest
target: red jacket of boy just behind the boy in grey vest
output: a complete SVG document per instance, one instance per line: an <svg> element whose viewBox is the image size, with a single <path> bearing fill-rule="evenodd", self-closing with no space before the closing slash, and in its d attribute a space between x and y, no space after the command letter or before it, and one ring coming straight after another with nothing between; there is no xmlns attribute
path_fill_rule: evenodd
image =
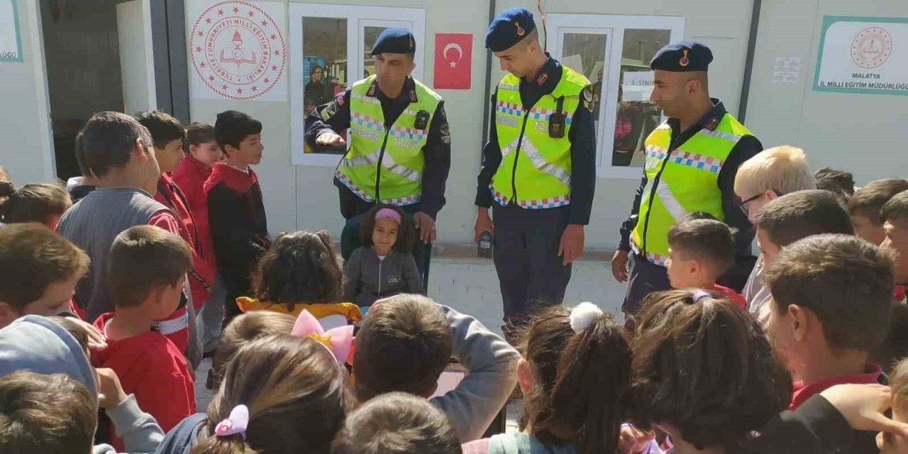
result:
<svg viewBox="0 0 908 454"><path fill-rule="evenodd" d="M189 210L189 204L183 192L166 173L163 173L161 179L158 180L158 192L154 194L154 200L163 203L177 215L177 221L180 222L180 236L192 250L192 271L194 272L191 272L187 279L189 289L192 291L192 306L199 310L208 299L209 289L214 285L214 267L200 254L202 249L199 246L199 235L195 231L195 219Z"/></svg>

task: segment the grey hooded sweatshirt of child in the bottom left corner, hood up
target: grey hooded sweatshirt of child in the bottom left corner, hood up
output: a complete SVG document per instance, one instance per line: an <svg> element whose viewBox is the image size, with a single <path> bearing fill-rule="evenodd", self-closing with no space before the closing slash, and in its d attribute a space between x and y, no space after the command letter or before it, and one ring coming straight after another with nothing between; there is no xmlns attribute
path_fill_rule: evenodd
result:
<svg viewBox="0 0 908 454"><path fill-rule="evenodd" d="M26 315L0 330L0 377L16 370L65 373L84 384L92 395L98 393L94 369L79 342L60 325L37 315ZM117 437L123 440L126 452L152 453L164 438L157 421L139 410L132 395L105 412L114 423ZM114 454L116 451L110 445L98 445L93 452Z"/></svg>

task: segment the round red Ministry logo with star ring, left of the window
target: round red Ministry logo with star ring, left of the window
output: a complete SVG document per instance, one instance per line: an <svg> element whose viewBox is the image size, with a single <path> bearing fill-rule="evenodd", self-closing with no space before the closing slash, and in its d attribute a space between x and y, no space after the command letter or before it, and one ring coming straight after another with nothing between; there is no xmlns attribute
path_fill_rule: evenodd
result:
<svg viewBox="0 0 908 454"><path fill-rule="evenodd" d="M195 73L227 98L249 100L268 93L287 64L281 27L249 2L209 6L192 25L189 38Z"/></svg>

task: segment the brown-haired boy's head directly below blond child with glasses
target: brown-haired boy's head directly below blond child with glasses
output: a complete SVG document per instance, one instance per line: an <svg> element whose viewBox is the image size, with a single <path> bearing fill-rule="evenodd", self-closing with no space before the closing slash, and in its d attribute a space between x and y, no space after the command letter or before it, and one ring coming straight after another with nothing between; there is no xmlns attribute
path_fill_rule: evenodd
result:
<svg viewBox="0 0 908 454"><path fill-rule="evenodd" d="M788 244L820 233L854 234L851 218L842 203L829 191L810 190L785 194L766 203L757 213L756 244L765 266ZM748 301L757 320L765 322L770 313L768 297Z"/></svg>

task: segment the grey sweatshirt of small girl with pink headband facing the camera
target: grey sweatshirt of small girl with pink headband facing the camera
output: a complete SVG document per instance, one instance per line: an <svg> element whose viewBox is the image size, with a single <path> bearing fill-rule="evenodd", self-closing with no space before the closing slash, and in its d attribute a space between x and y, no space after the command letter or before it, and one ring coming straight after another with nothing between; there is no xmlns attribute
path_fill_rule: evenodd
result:
<svg viewBox="0 0 908 454"><path fill-rule="evenodd" d="M416 260L410 252L391 251L383 260L372 248L361 247L344 265L344 301L360 307L398 293L425 293Z"/></svg>

